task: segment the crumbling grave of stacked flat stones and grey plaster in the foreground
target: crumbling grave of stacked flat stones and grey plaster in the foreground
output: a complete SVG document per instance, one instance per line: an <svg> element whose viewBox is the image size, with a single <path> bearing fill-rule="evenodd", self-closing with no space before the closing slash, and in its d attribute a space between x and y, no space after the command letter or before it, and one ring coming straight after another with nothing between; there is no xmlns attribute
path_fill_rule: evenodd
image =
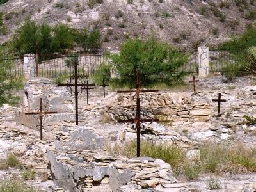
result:
<svg viewBox="0 0 256 192"><path fill-rule="evenodd" d="M92 150L47 152L55 182L70 191L104 186L118 189L169 189L186 186L172 176L170 164L160 159L99 154Z"/></svg>

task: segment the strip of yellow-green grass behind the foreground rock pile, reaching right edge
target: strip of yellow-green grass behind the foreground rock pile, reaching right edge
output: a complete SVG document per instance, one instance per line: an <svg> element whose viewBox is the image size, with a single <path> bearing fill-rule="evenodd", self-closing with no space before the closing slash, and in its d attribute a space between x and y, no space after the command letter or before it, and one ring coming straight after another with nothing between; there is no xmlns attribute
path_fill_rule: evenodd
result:
<svg viewBox="0 0 256 192"><path fill-rule="evenodd" d="M228 146L227 143L206 142L200 145L199 150L200 156L192 161L186 157L183 148L175 145L141 142L141 156L163 159L172 165L173 173L178 178L196 180L200 173L234 174L256 171L256 147L245 147L242 143ZM129 141L124 148L116 147L113 151L135 157L136 141Z"/></svg>

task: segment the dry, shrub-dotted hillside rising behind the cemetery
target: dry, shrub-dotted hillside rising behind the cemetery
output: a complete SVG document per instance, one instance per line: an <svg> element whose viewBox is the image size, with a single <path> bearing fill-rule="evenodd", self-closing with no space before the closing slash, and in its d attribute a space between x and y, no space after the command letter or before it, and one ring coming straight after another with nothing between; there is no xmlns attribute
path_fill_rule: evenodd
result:
<svg viewBox="0 0 256 192"><path fill-rule="evenodd" d="M256 3L237 2L104 0L93 4L92 0L10 0L0 6L8 29L0 36L0 42L10 39L13 31L30 16L37 23L51 25L58 22L76 28L97 25L103 34L103 46L111 49L118 49L129 36L145 37L152 31L175 45L217 44L231 34L243 32L255 20Z"/></svg>

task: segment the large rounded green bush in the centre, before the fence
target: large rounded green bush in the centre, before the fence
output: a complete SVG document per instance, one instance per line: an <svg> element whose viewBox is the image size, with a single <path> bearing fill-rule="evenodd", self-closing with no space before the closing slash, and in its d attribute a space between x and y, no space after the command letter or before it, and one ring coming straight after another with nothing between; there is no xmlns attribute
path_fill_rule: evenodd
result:
<svg viewBox="0 0 256 192"><path fill-rule="evenodd" d="M147 40L138 38L126 40L120 47L120 54L112 55L111 59L113 67L119 74L115 79L118 84L132 85L134 78L131 76L138 68L141 84L152 86L159 81L170 85L182 79L184 72L177 72L177 68L188 61L188 56L151 36Z"/></svg>

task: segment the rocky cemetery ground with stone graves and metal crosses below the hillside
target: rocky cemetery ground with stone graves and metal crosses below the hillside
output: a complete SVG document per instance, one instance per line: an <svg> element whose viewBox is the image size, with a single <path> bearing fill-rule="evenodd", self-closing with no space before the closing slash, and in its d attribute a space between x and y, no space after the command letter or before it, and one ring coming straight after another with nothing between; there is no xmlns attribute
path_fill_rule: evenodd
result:
<svg viewBox="0 0 256 192"><path fill-rule="evenodd" d="M254 76L226 83L206 53L183 87L141 88L136 68L134 88L113 90L79 76L76 61L67 83L36 77L31 58L22 106L0 108L0 153L34 189L255 190ZM20 174L3 168L0 179Z"/></svg>

